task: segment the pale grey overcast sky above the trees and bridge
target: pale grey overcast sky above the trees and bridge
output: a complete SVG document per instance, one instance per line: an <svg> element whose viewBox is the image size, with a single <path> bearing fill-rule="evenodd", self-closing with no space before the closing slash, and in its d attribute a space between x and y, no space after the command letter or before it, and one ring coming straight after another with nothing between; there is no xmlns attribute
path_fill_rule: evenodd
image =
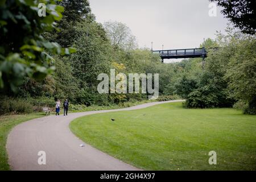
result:
<svg viewBox="0 0 256 182"><path fill-rule="evenodd" d="M217 7L210 17L208 0L90 0L97 22L116 20L130 27L140 47L195 48L203 39L215 38L228 20Z"/></svg>

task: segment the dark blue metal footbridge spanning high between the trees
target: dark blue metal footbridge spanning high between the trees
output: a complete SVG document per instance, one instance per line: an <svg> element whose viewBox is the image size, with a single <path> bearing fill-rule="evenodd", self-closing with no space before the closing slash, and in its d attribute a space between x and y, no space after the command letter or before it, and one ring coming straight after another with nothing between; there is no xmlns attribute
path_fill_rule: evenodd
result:
<svg viewBox="0 0 256 182"><path fill-rule="evenodd" d="M202 57L203 60L207 57L205 48L191 48L191 49L170 49L161 51L152 51L158 53L162 60L164 59L178 59L178 58L194 58Z"/></svg>

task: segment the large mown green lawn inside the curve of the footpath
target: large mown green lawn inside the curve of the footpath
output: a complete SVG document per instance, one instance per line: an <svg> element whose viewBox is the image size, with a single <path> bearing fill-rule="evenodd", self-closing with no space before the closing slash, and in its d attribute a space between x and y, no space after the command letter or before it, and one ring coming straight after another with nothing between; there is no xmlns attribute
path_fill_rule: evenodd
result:
<svg viewBox="0 0 256 182"><path fill-rule="evenodd" d="M234 109L184 109L177 102L88 115L70 127L86 143L142 169L256 170L256 116ZM217 165L209 165L209 151L217 152Z"/></svg>

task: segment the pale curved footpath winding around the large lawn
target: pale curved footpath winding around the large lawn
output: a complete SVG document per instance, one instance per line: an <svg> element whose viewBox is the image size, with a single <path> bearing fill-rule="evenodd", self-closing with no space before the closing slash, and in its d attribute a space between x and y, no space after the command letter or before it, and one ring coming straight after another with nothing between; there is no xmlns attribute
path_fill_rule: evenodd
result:
<svg viewBox="0 0 256 182"><path fill-rule="evenodd" d="M50 115L21 123L14 127L7 139L9 164L13 170L139 170L88 144L80 147L84 142L69 130L69 123L84 115L142 109L179 101L183 100L151 102L125 109L71 113L67 116ZM39 151L46 152L46 165L38 164Z"/></svg>

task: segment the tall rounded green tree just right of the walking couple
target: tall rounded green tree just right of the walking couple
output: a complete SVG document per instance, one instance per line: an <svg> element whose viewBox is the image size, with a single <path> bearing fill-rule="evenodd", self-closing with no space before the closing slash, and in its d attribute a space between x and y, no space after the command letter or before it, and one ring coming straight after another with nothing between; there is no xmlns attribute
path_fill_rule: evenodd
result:
<svg viewBox="0 0 256 182"><path fill-rule="evenodd" d="M76 102L87 106L107 104L108 96L98 94L97 76L109 73L111 47L101 24L83 20L77 24L80 37L75 41L77 52L69 57L72 75L79 84Z"/></svg>

